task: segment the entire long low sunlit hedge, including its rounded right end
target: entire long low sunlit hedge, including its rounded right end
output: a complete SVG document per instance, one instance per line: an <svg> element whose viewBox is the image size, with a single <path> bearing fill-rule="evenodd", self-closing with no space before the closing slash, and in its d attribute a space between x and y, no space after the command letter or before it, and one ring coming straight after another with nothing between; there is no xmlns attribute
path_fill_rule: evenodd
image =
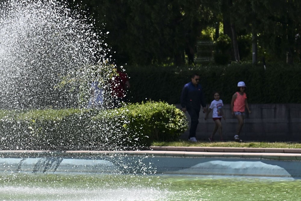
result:
<svg viewBox="0 0 301 201"><path fill-rule="evenodd" d="M113 110L0 111L3 149L119 149L174 140L188 126L185 114L165 102Z"/></svg>

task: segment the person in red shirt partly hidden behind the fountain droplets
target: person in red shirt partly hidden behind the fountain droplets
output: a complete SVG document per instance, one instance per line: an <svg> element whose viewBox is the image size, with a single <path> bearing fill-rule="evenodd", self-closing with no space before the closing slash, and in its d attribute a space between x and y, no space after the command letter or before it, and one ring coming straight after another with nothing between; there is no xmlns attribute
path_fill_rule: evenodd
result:
<svg viewBox="0 0 301 201"><path fill-rule="evenodd" d="M130 88L129 78L126 73L117 70L118 75L112 78L111 94L113 97L113 108L119 108L127 101L126 92Z"/></svg>

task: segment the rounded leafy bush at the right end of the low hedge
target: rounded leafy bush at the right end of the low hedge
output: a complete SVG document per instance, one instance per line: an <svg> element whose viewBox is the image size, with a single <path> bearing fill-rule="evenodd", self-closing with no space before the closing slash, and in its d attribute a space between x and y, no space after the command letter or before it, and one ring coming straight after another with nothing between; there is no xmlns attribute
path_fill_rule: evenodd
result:
<svg viewBox="0 0 301 201"><path fill-rule="evenodd" d="M129 139L125 143L131 146L151 145L156 140L172 141L178 139L188 127L185 114L166 102L129 104L102 111L94 119L95 122L106 122L105 125L118 122L117 128L120 130L117 131L123 133L123 139ZM111 132L116 132L115 129Z"/></svg>

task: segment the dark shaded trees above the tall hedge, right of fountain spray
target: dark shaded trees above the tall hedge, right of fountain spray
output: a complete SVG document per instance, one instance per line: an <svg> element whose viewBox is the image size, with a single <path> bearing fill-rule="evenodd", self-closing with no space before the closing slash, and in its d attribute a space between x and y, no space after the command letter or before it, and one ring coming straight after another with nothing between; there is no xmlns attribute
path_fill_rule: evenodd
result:
<svg viewBox="0 0 301 201"><path fill-rule="evenodd" d="M198 40L231 39L230 60L300 63L301 1L68 0L95 19L118 65L185 64L185 48ZM76 9L78 9L76 7ZM235 56L235 51L239 52ZM114 53L116 52L116 53ZM221 55L219 55L221 56ZM225 55L224 55L225 56Z"/></svg>

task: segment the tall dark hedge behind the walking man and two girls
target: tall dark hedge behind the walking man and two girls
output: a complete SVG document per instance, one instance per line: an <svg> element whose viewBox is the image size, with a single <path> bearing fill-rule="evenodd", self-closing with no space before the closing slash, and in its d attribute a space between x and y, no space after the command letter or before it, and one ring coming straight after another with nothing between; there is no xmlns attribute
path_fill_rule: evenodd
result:
<svg viewBox="0 0 301 201"><path fill-rule="evenodd" d="M197 72L207 103L213 100L213 92L219 91L224 103L229 104L239 81L247 84L249 103L301 103L300 65L267 64L266 70L261 64L250 63L190 68L127 66L126 72L131 84L130 102L162 100L178 104L184 84L191 80L192 73Z"/></svg>

